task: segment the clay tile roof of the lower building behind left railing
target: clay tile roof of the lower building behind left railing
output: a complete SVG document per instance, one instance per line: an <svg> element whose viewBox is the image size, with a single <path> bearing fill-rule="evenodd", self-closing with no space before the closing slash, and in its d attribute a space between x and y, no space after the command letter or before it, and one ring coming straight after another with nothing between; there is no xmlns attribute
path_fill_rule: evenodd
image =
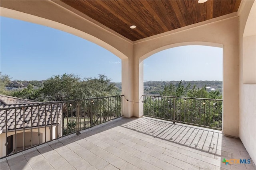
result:
<svg viewBox="0 0 256 170"><path fill-rule="evenodd" d="M38 103L32 100L14 98L0 95L0 131L5 131L5 121L7 115L7 129L16 130L39 126L56 125L61 123L62 104ZM16 107L16 109L6 109ZM4 110L3 110L4 109ZM16 115L16 118L15 118ZM39 120L39 121L38 121Z"/></svg>

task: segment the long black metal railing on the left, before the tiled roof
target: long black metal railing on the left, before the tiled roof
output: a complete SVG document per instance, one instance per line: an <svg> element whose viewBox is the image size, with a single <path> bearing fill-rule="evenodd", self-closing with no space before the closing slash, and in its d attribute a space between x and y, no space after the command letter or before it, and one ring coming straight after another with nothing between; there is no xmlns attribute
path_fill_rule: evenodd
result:
<svg viewBox="0 0 256 170"><path fill-rule="evenodd" d="M122 107L123 96L5 106L0 109L5 144L0 157L121 117Z"/></svg>

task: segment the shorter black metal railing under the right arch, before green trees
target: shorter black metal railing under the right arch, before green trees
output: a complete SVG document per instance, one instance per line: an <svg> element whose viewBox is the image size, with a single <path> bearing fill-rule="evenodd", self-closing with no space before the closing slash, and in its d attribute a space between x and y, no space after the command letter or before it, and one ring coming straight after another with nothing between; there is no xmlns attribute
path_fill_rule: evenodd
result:
<svg viewBox="0 0 256 170"><path fill-rule="evenodd" d="M143 96L143 115L222 129L222 99Z"/></svg>

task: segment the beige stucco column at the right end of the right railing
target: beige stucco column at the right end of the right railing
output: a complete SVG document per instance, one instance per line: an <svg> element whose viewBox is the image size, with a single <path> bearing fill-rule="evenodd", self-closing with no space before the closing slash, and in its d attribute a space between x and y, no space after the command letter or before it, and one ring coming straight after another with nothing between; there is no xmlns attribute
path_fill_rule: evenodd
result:
<svg viewBox="0 0 256 170"><path fill-rule="evenodd" d="M239 51L235 40L223 48L222 129L225 135L239 137Z"/></svg>

